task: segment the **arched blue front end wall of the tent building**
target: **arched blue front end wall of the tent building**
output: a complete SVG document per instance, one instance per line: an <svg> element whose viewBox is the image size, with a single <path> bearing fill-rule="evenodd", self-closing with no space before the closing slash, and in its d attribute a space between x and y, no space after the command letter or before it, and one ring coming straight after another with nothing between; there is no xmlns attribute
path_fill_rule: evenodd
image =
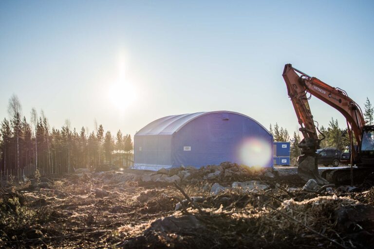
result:
<svg viewBox="0 0 374 249"><path fill-rule="evenodd" d="M255 121L234 113L210 113L190 121L173 135L172 165L201 167L231 161L272 167L272 144L271 134ZM246 150L252 155L249 158Z"/></svg>

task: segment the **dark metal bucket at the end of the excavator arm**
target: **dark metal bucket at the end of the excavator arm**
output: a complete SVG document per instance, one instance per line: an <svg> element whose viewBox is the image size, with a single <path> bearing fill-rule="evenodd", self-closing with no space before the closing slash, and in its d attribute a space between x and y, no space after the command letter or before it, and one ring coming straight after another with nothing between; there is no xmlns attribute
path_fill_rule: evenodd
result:
<svg viewBox="0 0 374 249"><path fill-rule="evenodd" d="M301 160L300 160L301 159ZM301 156L299 158L298 175L303 180L315 179L318 184L326 185L329 182L318 173L316 158L312 156Z"/></svg>

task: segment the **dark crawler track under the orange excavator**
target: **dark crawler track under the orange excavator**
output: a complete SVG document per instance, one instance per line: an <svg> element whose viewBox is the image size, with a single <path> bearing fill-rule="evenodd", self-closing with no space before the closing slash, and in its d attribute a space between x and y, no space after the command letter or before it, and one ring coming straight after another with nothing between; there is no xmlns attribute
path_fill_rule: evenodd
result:
<svg viewBox="0 0 374 249"><path fill-rule="evenodd" d="M361 184L364 179L370 174L374 172L373 167L365 167L365 168L353 168L353 183L355 185ZM342 169L331 169L325 170L322 172L322 177L328 180L330 183L334 183L335 185L350 185L351 184L351 168L342 168Z"/></svg>

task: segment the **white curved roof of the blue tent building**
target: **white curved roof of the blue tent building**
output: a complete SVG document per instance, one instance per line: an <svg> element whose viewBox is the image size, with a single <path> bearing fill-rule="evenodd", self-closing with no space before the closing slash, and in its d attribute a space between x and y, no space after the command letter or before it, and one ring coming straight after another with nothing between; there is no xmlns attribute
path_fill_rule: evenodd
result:
<svg viewBox="0 0 374 249"><path fill-rule="evenodd" d="M140 131L138 131L135 136L138 135L171 135L175 132L177 132L179 129L181 129L183 126L191 122L192 120L201 117L203 115L211 114L211 113L233 113L238 114L243 117L249 118L256 122L258 125L262 126L259 122L256 120L233 111L206 111L206 112L196 112L196 113L190 113L190 114L181 114L181 115L172 115L163 117L160 119L157 119L150 124L144 126ZM264 130L266 130L269 134L270 132L262 126Z"/></svg>

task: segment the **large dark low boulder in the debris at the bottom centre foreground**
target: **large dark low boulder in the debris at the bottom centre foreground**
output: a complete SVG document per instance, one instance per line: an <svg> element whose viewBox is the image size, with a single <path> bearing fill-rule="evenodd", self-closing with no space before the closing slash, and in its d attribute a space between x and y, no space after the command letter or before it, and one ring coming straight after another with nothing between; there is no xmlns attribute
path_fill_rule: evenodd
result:
<svg viewBox="0 0 374 249"><path fill-rule="evenodd" d="M150 228L144 231L144 233L147 234L149 231L188 231L201 227L203 227L203 225L194 215L183 215L179 217L171 215L152 222Z"/></svg>

